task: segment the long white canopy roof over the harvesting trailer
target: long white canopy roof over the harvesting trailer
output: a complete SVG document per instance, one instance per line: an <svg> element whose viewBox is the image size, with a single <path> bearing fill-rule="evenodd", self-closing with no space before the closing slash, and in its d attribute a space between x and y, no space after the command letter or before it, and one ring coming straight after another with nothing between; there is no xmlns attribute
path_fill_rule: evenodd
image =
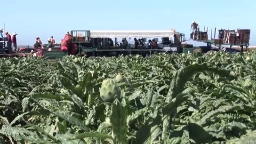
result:
<svg viewBox="0 0 256 144"><path fill-rule="evenodd" d="M173 37L173 30L90 30L91 37Z"/></svg>

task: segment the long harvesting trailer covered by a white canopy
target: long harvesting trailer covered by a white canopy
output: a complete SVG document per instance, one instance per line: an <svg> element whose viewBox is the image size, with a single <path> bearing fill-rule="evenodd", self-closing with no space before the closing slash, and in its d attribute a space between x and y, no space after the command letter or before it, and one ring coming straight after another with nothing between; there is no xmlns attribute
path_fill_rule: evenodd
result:
<svg viewBox="0 0 256 144"><path fill-rule="evenodd" d="M172 30L71 30L72 43L77 45L76 55L86 57L118 56L121 54L150 55L159 52L182 52L181 42L185 35ZM119 38L129 39L129 45L123 49L119 44ZM135 46L131 39L140 39L142 45ZM147 39L154 39L157 47L147 44ZM114 39L114 41L112 40ZM159 41L160 39L160 41ZM61 46L60 46L61 47ZM73 49L73 47L71 47ZM49 59L61 58L68 55L68 51L57 50L44 51L44 57Z"/></svg>

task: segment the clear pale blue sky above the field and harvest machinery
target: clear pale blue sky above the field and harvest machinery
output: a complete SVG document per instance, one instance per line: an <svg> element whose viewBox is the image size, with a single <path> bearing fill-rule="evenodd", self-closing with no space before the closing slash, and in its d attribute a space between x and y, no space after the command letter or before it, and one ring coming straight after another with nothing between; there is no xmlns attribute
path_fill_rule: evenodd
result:
<svg viewBox="0 0 256 144"><path fill-rule="evenodd" d="M18 45L43 43L51 35L60 43L70 30L170 30L189 38L195 20L201 29L251 29L250 45L256 45L253 0L215 1L60 1L12 0L1 2L0 27L18 33Z"/></svg>

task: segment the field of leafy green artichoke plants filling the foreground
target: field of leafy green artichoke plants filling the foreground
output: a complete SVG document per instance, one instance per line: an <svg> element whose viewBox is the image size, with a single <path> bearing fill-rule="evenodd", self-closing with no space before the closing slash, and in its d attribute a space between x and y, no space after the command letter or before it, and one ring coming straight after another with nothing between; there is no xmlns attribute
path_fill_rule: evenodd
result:
<svg viewBox="0 0 256 144"><path fill-rule="evenodd" d="M256 141L256 52L0 59L0 143Z"/></svg>

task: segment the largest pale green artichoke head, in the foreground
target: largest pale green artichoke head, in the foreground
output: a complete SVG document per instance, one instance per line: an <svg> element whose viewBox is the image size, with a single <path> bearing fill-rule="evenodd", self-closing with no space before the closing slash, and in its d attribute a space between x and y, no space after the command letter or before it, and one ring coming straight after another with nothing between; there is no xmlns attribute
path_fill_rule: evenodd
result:
<svg viewBox="0 0 256 144"><path fill-rule="evenodd" d="M116 98L120 98L121 90L117 86L114 79L103 80L100 88L100 97L105 102L113 102Z"/></svg>

